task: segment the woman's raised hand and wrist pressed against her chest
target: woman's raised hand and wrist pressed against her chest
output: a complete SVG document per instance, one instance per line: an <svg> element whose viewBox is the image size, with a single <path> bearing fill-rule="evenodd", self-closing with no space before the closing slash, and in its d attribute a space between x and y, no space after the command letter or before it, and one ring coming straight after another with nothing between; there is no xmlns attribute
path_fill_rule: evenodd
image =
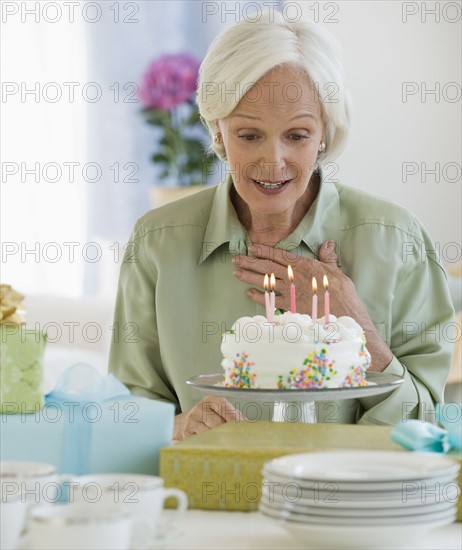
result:
<svg viewBox="0 0 462 550"><path fill-rule="evenodd" d="M337 266L335 242L326 241L319 249L319 260L305 258L296 254L273 248L271 246L255 244L249 247L252 256L235 256L236 265L234 275L247 284L259 288L252 288L247 295L254 302L264 305L265 293L259 290L263 286L265 273L274 273L276 276L276 308L290 310L290 281L287 266L294 270L297 292L297 311L311 315L311 281L316 277L318 282L318 311L319 316L324 314L324 287L323 276L329 281L330 310L336 317L348 315L362 326L366 333L367 349L372 356L371 370L383 371L393 359L388 346L377 332L369 313L356 293L355 285Z"/></svg>

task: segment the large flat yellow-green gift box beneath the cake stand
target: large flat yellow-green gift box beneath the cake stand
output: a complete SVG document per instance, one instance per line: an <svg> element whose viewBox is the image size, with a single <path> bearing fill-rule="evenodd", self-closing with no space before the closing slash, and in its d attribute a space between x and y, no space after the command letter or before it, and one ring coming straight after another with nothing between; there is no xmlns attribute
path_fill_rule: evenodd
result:
<svg viewBox="0 0 462 550"><path fill-rule="evenodd" d="M261 469L268 460L335 449L409 452L391 440L393 429L353 424L230 422L162 449L160 476L166 487L186 492L190 508L257 510ZM460 453L449 456L461 461Z"/></svg>

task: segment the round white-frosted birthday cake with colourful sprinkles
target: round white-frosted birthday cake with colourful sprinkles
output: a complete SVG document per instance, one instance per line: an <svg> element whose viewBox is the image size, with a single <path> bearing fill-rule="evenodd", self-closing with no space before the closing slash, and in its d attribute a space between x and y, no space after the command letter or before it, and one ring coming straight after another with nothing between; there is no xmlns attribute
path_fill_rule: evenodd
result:
<svg viewBox="0 0 462 550"><path fill-rule="evenodd" d="M308 389L366 386L370 365L363 329L351 317L286 312L241 317L222 336L225 386Z"/></svg>

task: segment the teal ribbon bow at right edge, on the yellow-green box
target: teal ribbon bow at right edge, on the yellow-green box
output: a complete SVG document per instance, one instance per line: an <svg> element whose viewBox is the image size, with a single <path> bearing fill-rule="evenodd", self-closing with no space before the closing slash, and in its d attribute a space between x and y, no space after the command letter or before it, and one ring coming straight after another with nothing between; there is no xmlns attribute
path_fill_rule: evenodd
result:
<svg viewBox="0 0 462 550"><path fill-rule="evenodd" d="M422 420L401 422L391 438L411 451L447 453L451 449L462 449L462 405L437 405L436 421L440 426Z"/></svg>

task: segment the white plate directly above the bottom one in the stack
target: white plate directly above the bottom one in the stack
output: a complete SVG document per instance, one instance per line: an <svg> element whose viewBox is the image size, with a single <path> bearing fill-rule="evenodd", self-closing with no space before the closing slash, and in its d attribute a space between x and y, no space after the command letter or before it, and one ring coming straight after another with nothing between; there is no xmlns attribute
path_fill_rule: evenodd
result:
<svg viewBox="0 0 462 550"><path fill-rule="evenodd" d="M356 514L350 514L348 516L332 515L330 512L337 512L335 509L318 509L318 512L324 511L325 514L311 514L302 510L291 510L287 507L277 507L260 501L258 504L260 512L264 514L281 519L288 519L291 521L297 521L300 523L315 523L315 524L328 524L328 525L401 525L404 523L414 522L427 522L440 519L446 519L447 517L453 517L455 519L457 514L457 507L455 504L449 507L442 508L441 510L434 510L433 512L425 513L420 512L417 508L417 512L410 513L408 509L401 510L400 515L384 515L382 509L378 510L378 514L375 516L363 514L363 509L356 509ZM415 507L413 507L416 510ZM306 508L305 508L306 510ZM409 512L409 513L408 513Z"/></svg>

